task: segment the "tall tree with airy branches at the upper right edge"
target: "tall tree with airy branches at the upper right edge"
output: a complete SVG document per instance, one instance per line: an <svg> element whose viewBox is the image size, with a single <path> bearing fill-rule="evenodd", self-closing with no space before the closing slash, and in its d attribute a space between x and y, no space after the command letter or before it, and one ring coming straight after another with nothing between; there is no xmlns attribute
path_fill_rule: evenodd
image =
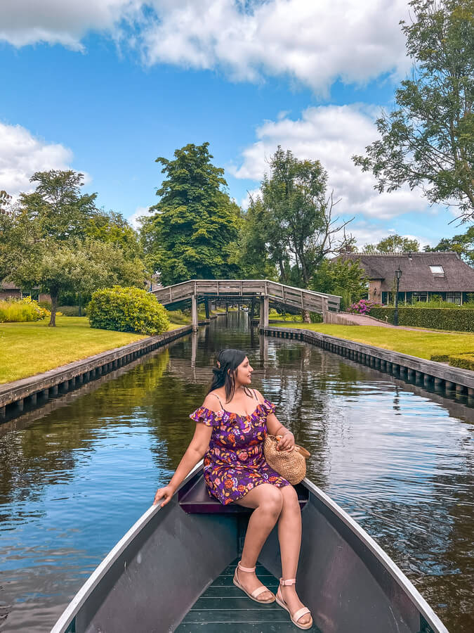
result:
<svg viewBox="0 0 474 633"><path fill-rule="evenodd" d="M397 109L376 120L380 139L353 156L378 191L421 187L430 203L474 217L474 0L412 0L400 22L412 79L395 92Z"/></svg>

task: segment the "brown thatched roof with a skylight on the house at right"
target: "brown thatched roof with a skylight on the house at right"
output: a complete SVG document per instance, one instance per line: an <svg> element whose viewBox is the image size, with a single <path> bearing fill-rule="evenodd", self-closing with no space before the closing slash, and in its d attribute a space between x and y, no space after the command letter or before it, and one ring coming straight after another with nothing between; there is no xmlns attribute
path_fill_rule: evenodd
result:
<svg viewBox="0 0 474 633"><path fill-rule="evenodd" d="M369 279L381 279L383 292L393 290L395 270L400 266L400 292L474 292L474 269L456 252L411 252L397 255L364 255L348 252L343 259L359 260ZM430 267L441 267L441 270Z"/></svg>

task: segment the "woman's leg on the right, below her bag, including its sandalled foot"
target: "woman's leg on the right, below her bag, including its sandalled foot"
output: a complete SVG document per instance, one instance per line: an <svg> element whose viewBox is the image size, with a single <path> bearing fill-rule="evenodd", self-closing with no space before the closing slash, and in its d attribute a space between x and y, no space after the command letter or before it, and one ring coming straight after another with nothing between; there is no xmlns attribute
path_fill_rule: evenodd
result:
<svg viewBox="0 0 474 633"><path fill-rule="evenodd" d="M290 580L296 578L296 570L298 569L301 548L301 510L298 504L298 494L293 486L284 486L280 490L283 507L278 520L278 539L282 554L282 578ZM291 613L295 613L305 606L298 598L294 584L280 587L280 591ZM310 620L311 616L306 614L302 615L298 622L306 624Z"/></svg>

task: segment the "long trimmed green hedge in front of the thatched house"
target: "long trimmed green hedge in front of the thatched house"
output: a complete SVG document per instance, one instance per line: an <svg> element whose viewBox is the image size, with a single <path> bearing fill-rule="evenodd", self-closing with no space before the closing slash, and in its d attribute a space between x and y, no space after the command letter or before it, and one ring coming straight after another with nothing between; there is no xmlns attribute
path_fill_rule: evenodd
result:
<svg viewBox="0 0 474 633"><path fill-rule="evenodd" d="M373 307L370 316L381 321L393 323L393 307ZM468 308L420 308L400 306L398 308L398 324L414 328L430 328L433 330L454 330L457 332L474 332L474 309Z"/></svg>

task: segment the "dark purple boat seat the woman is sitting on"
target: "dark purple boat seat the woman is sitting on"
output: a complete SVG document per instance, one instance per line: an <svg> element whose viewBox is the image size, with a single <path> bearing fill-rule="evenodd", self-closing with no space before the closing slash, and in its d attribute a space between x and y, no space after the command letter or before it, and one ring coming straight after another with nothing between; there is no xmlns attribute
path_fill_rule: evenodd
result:
<svg viewBox="0 0 474 633"><path fill-rule="evenodd" d="M309 491L303 485L295 486L298 493L298 502L303 509L309 499ZM191 480L178 491L178 502L188 514L250 514L250 508L244 508L238 504L223 506L217 499L209 495L204 478Z"/></svg>

